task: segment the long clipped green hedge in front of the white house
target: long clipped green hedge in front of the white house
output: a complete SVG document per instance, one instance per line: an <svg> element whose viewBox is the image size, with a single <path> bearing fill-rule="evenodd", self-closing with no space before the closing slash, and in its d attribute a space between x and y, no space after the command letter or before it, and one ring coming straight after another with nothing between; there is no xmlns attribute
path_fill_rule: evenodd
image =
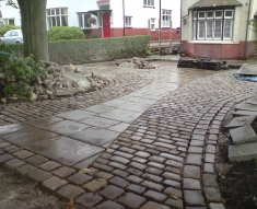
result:
<svg viewBox="0 0 257 209"><path fill-rule="evenodd" d="M49 42L50 61L79 63L112 60L144 54L150 36L94 38ZM21 45L11 45L15 55L22 55Z"/></svg>

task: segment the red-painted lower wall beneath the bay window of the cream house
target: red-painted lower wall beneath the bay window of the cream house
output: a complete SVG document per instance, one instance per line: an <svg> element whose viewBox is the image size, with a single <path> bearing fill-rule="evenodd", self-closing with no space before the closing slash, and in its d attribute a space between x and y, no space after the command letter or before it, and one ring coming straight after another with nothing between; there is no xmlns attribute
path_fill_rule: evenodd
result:
<svg viewBox="0 0 257 209"><path fill-rule="evenodd" d="M240 44L196 44L182 42L182 53L188 57L208 57L210 59L244 59L245 42ZM248 42L246 58L255 55L254 44L257 42Z"/></svg>

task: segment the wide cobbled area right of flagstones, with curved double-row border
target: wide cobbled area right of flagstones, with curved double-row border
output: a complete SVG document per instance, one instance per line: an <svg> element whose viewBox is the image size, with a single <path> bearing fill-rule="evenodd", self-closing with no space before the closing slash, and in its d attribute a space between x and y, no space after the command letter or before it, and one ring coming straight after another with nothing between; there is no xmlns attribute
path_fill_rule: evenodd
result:
<svg viewBox="0 0 257 209"><path fill-rule="evenodd" d="M128 208L222 207L214 172L220 126L234 104L256 95L256 86L230 71L152 105L93 163L112 174L102 194L119 190L115 201Z"/></svg>

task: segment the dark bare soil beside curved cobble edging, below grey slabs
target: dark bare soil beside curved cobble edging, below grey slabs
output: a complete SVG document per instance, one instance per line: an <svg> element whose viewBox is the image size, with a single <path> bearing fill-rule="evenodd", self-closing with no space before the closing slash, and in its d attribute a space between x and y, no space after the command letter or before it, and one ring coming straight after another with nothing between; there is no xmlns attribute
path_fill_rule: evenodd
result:
<svg viewBox="0 0 257 209"><path fill-rule="evenodd" d="M231 120L224 119L224 125ZM223 129L219 140L215 169L226 209L257 209L257 160L231 163L227 148L232 143L229 131Z"/></svg>

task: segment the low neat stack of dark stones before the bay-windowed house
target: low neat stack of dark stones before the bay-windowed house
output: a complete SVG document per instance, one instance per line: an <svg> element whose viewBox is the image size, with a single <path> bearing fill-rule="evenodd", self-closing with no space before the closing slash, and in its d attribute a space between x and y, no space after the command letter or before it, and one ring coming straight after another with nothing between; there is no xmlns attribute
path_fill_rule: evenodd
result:
<svg viewBox="0 0 257 209"><path fill-rule="evenodd" d="M209 59L179 59L178 68L200 68L206 70L229 69L226 61L213 61Z"/></svg>

